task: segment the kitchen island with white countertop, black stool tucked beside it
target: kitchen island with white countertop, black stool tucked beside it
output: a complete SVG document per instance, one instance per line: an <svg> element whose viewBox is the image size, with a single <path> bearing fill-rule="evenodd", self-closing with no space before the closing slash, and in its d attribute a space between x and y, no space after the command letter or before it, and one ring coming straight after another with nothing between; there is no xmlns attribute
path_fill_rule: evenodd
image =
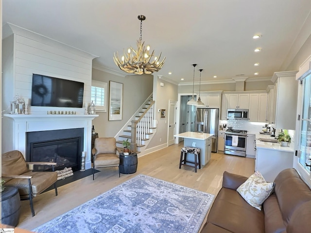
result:
<svg viewBox="0 0 311 233"><path fill-rule="evenodd" d="M185 132L174 135L184 138L184 147L195 147L201 150L201 167L206 166L210 160L212 133ZM194 161L194 155L189 154L187 160Z"/></svg>

